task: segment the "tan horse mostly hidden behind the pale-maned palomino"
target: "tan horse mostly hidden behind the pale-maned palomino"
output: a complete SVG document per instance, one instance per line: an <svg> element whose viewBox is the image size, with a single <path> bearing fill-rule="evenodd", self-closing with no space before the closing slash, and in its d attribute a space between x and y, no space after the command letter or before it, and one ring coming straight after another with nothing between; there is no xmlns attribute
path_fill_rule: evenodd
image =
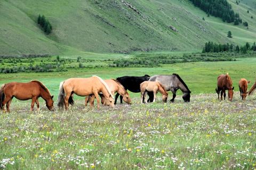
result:
<svg viewBox="0 0 256 170"><path fill-rule="evenodd" d="M132 104L131 98L128 92L124 89L123 85L119 81L115 79L109 79L104 81L108 84L108 87L110 88L111 93L113 95L115 94L115 92L118 92L118 94L120 94L123 97L125 103ZM101 97L101 103L103 105L109 106L110 105L109 100L107 100L102 94L99 94L99 95ZM92 104L91 106L93 106L94 98L95 98L94 95L87 96L85 98L85 106L87 106L88 100L90 100L90 104Z"/></svg>

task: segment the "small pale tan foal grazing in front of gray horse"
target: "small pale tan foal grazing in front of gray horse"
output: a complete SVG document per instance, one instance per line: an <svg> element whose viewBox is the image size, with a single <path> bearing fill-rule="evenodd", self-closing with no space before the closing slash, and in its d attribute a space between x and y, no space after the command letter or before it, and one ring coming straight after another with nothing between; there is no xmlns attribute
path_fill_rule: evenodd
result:
<svg viewBox="0 0 256 170"><path fill-rule="evenodd" d="M156 101L156 94L158 91L161 92L162 99L163 99L164 103L167 101L168 92L164 89L163 84L161 84L157 81L144 81L140 84L140 92L141 92L140 101L141 101L141 103L145 103L145 102L147 103L147 101L145 101L145 98L146 98L148 91L154 92L153 102Z"/></svg>

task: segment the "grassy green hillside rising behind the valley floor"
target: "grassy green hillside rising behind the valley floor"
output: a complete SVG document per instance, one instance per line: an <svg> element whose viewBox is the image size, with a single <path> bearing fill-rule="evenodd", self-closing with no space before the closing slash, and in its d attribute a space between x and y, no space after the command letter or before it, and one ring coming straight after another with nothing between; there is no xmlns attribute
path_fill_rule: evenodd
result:
<svg viewBox="0 0 256 170"><path fill-rule="evenodd" d="M255 2L229 2L249 23L249 29L207 17L188 0L0 1L0 55L191 52L201 51L206 41L253 43ZM38 14L51 22L50 35L38 27ZM227 38L229 30L232 39Z"/></svg>

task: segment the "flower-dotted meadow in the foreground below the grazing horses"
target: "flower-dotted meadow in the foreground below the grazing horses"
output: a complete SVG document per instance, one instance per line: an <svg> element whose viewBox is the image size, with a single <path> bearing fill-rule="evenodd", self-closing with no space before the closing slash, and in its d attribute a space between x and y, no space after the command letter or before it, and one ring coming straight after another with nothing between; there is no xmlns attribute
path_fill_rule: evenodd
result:
<svg viewBox="0 0 256 170"><path fill-rule="evenodd" d="M29 113L13 103L0 114L0 163L6 169L253 169L255 96L218 101L194 95L190 103Z"/></svg>

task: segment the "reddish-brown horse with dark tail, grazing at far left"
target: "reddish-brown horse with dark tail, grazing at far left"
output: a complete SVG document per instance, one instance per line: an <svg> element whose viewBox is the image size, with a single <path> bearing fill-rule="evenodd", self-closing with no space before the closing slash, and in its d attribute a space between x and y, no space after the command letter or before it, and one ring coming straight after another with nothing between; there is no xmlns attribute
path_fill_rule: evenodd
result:
<svg viewBox="0 0 256 170"><path fill-rule="evenodd" d="M4 105L6 104L7 112L10 112L10 104L12 98L15 97L19 100L32 99L30 111L33 111L36 103L37 111L39 111L38 98L42 97L46 101L47 108L53 110L53 96L50 91L44 86L43 83L33 80L28 83L11 82L3 84L0 89L0 107L5 111Z"/></svg>

